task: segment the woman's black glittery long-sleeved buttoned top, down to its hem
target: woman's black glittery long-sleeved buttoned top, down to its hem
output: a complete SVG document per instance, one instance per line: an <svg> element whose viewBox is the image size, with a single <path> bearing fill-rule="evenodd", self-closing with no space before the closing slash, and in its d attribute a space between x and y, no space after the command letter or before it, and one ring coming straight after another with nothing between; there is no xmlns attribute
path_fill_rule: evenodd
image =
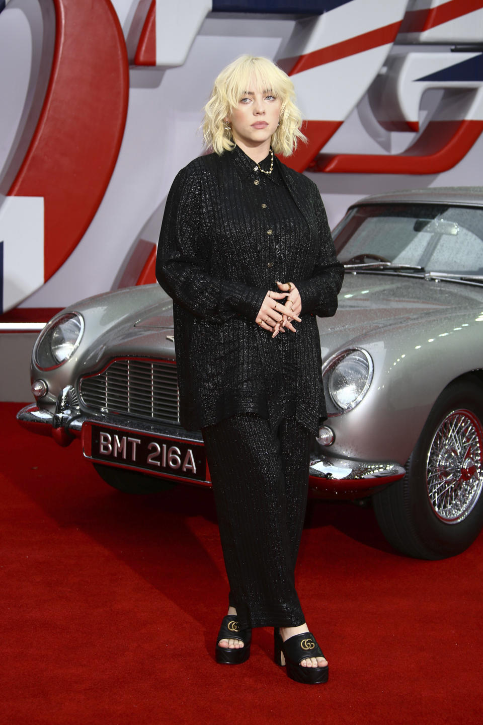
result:
<svg viewBox="0 0 483 725"><path fill-rule="evenodd" d="M174 301L180 421L196 430L258 413L275 430L295 406L317 434L326 409L315 315L335 313L343 265L316 185L276 157L273 178L256 166L238 146L208 154L169 191L156 278ZM272 339L255 318L277 280L298 287L302 321Z"/></svg>

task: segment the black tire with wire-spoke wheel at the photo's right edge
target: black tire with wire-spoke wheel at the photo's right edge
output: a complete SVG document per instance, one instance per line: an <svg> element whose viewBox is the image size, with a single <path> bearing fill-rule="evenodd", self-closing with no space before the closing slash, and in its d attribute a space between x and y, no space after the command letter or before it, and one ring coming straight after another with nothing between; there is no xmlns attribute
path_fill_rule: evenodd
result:
<svg viewBox="0 0 483 725"><path fill-rule="evenodd" d="M374 494L377 522L406 555L461 553L483 525L483 390L475 378L446 388L432 407L406 476Z"/></svg>

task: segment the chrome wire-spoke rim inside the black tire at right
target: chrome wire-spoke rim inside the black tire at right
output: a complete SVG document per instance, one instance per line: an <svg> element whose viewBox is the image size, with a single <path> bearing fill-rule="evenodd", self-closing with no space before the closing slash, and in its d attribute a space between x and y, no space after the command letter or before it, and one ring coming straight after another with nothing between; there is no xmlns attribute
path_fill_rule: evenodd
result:
<svg viewBox="0 0 483 725"><path fill-rule="evenodd" d="M482 424L469 410L455 410L437 429L427 457L427 492L441 521L458 523L483 487Z"/></svg>

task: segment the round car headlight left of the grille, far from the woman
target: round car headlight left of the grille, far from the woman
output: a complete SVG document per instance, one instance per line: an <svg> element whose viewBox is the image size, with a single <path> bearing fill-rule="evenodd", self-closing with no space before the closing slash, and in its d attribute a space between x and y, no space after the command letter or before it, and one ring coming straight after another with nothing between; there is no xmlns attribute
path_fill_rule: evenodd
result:
<svg viewBox="0 0 483 725"><path fill-rule="evenodd" d="M33 349L33 358L41 370L51 370L67 363L83 336L84 320L78 312L67 312L48 323Z"/></svg>

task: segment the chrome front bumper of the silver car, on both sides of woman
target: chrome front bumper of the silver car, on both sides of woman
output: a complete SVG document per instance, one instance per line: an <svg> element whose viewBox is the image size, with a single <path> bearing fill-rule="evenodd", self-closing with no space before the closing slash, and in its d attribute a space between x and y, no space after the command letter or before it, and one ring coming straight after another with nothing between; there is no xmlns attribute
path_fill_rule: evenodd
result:
<svg viewBox="0 0 483 725"><path fill-rule="evenodd" d="M102 418L72 411L62 405L62 396L56 410L26 405L17 413L17 420L27 430L43 436L51 436L61 446L69 445L74 439L81 438L83 426L92 423L119 428L121 431L153 434L177 439L180 442L200 443L203 441L198 431L185 431L184 428L169 426L166 423L150 424L146 421L125 419L119 415L104 415ZM122 467L122 464L117 463ZM130 468L125 466L125 468ZM406 471L399 463L350 460L331 455L313 453L311 455L309 484L313 494L324 498L359 498L371 495L392 481L401 479ZM159 473L162 477L166 474ZM174 476L171 476L174 478ZM204 484L209 484L209 474ZM201 482L203 484L203 482Z"/></svg>

